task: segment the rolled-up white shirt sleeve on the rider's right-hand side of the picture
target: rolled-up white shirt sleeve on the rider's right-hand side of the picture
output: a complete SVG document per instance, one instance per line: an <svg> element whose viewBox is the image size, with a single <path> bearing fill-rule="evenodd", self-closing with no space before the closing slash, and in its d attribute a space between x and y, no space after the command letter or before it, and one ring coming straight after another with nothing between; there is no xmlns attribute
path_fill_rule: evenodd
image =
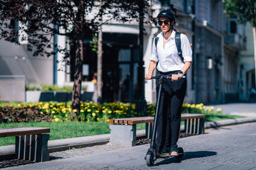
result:
<svg viewBox="0 0 256 170"><path fill-rule="evenodd" d="M180 34L180 41L181 41L182 57L184 58L184 62L192 61L192 50L191 50L188 37L184 34Z"/></svg>

